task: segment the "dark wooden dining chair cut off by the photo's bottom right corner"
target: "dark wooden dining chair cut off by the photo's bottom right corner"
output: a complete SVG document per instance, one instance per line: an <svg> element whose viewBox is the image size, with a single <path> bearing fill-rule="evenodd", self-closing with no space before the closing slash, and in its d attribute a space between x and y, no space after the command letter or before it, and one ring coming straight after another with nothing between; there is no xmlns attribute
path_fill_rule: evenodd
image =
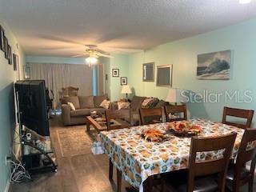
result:
<svg viewBox="0 0 256 192"><path fill-rule="evenodd" d="M232 163L230 165L227 171L226 186L230 191L238 192L240 186L248 183L248 191L253 192L256 147L251 146L248 148L247 145L248 143L252 144L255 140L256 129L246 129L239 146L237 160L235 164ZM247 170L244 166L246 162L250 162L250 170Z"/></svg>

